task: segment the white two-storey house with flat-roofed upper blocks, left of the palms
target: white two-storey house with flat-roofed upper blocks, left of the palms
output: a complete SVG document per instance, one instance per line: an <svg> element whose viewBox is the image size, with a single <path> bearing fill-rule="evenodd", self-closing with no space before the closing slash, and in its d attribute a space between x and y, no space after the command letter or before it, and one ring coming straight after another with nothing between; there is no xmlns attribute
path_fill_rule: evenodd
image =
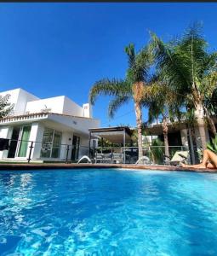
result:
<svg viewBox="0 0 217 256"><path fill-rule="evenodd" d="M14 108L0 119L0 138L10 139L1 160L77 160L88 154L89 129L100 126L89 103L81 107L66 96L40 99L20 88L0 96L7 94Z"/></svg>

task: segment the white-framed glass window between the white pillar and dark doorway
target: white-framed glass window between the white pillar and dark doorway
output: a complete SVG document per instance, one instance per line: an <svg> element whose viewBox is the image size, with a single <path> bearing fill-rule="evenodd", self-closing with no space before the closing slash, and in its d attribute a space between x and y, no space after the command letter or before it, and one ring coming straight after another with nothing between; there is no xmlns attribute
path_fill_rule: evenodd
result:
<svg viewBox="0 0 217 256"><path fill-rule="evenodd" d="M62 133L53 129L45 128L41 158L59 158Z"/></svg>

